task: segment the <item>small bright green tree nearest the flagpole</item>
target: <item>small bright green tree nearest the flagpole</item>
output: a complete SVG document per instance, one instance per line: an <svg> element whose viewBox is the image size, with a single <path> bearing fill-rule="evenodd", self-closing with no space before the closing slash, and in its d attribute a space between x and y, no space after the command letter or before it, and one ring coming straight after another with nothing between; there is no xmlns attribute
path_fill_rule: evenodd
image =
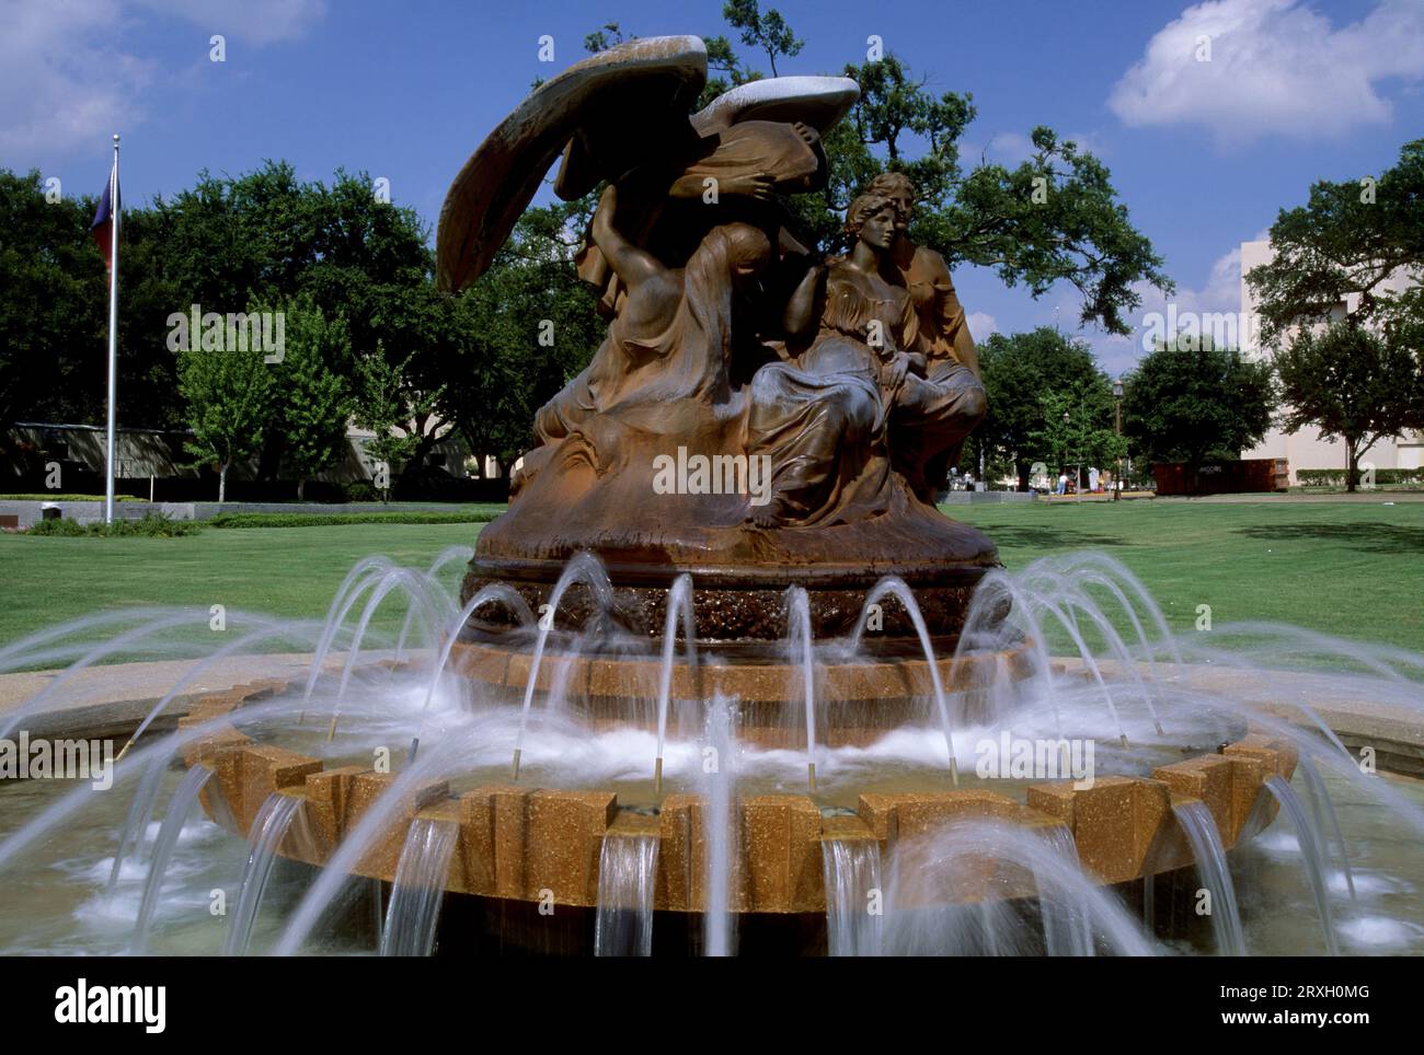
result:
<svg viewBox="0 0 1424 1055"><path fill-rule="evenodd" d="M189 334L178 353L179 387L188 404L192 439L184 446L199 464L218 466L218 500L228 496L228 469L262 449L272 421L273 374L262 347Z"/></svg>

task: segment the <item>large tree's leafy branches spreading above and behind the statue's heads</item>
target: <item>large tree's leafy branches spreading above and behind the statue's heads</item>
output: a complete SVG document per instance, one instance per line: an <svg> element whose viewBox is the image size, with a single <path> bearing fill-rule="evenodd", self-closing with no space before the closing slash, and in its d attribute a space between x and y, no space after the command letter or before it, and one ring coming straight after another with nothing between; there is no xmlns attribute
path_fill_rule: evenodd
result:
<svg viewBox="0 0 1424 1055"><path fill-rule="evenodd" d="M728 3L723 17L742 30L743 44L768 54L773 75L778 55L800 51L785 18L760 11L756 0ZM760 75L736 61L725 37L709 37L708 54L732 87ZM1005 284L1021 283L1034 297L1067 282L1082 297L1082 321L1119 334L1131 331L1128 317L1141 306L1143 286L1173 289L1162 257L1118 200L1111 173L1077 144L1038 127L1031 158L1012 169L981 159L965 175L958 141L975 117L971 94L933 94L893 53L849 64L844 75L860 85L860 100L824 138L826 188L789 199L806 240L846 249L846 208L876 175L896 169L918 193L911 239L950 266L993 267ZM726 87L716 82L718 91ZM703 92L702 102L715 94Z"/></svg>

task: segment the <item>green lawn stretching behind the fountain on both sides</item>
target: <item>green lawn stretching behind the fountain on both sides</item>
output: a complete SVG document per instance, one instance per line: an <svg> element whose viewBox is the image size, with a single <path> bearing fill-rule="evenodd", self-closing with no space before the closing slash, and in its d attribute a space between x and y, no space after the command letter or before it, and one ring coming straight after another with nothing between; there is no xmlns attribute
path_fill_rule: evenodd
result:
<svg viewBox="0 0 1424 1055"><path fill-rule="evenodd" d="M1190 630L1274 620L1343 637L1424 648L1424 503L1121 502L953 506L983 528L1004 563L1079 549L1122 560ZM182 539L0 535L0 644L98 609L225 604L320 617L346 570L384 553L424 566L473 546L480 525L342 525L204 530ZM447 569L450 582L459 569Z"/></svg>

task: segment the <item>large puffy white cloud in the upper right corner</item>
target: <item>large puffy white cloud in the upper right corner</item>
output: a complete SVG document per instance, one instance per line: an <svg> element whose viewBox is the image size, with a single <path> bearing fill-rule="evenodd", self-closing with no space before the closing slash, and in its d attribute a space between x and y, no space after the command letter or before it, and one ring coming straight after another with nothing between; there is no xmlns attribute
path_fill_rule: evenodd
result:
<svg viewBox="0 0 1424 1055"><path fill-rule="evenodd" d="M1420 0L1380 0L1340 27L1302 0L1209 0L1148 41L1108 105L1128 125L1200 125L1223 145L1337 136L1390 119L1391 77L1424 78Z"/></svg>

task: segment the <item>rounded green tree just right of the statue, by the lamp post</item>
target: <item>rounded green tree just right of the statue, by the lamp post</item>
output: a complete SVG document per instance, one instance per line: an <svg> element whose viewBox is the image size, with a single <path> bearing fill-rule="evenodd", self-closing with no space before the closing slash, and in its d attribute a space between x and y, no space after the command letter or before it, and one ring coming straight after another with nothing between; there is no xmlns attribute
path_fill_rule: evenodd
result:
<svg viewBox="0 0 1424 1055"><path fill-rule="evenodd" d="M1030 486L1035 462L1064 468L1116 461L1112 382L1084 341L1041 326L991 334L978 351L988 412L970 437L975 456L1008 461L1021 489Z"/></svg>

